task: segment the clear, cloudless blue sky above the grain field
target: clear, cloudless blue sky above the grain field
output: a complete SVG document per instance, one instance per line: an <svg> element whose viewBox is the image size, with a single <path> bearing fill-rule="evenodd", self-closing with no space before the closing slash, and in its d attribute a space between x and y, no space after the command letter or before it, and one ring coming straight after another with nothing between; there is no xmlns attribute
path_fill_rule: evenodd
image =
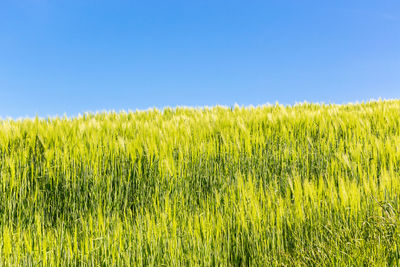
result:
<svg viewBox="0 0 400 267"><path fill-rule="evenodd" d="M0 117L400 98L400 1L1 0Z"/></svg>

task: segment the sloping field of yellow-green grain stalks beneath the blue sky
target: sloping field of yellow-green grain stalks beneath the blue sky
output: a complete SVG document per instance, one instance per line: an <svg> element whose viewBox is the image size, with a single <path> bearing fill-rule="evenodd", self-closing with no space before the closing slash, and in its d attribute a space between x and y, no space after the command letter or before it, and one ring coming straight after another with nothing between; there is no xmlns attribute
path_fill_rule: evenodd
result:
<svg viewBox="0 0 400 267"><path fill-rule="evenodd" d="M0 121L0 265L400 263L400 101Z"/></svg>

